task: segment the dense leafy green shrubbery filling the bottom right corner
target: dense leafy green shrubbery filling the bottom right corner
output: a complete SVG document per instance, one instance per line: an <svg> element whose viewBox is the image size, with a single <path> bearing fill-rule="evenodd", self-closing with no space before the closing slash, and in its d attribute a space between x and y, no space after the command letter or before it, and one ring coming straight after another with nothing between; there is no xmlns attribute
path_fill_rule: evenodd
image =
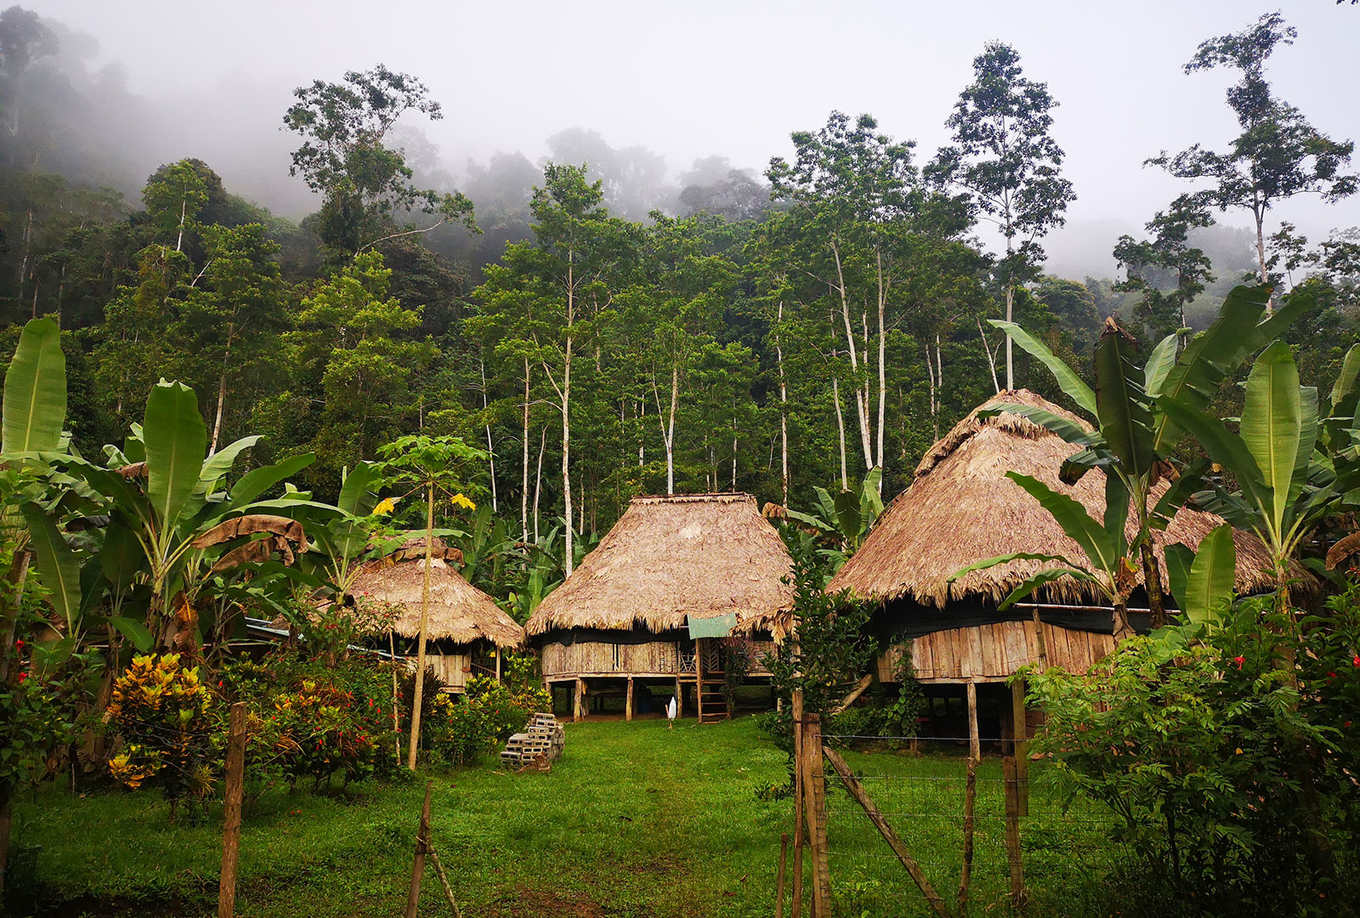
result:
<svg viewBox="0 0 1360 918"><path fill-rule="evenodd" d="M1357 600L1352 581L1300 622L1248 601L1201 643L1134 638L1084 676L1025 673L1047 717L1034 748L1062 787L1119 815L1145 864L1138 895L1170 887L1187 911L1250 915L1325 914L1353 895ZM1281 635L1297 647L1296 679L1278 666ZM1300 819L1308 811L1318 823ZM1310 832L1336 858L1321 873Z"/></svg>

